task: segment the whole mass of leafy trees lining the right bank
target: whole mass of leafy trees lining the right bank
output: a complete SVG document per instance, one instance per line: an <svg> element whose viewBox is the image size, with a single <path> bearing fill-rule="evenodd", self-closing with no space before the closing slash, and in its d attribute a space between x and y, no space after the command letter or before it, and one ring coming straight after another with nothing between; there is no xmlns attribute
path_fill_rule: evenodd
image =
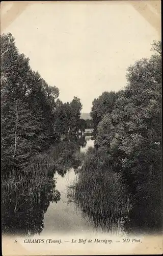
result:
<svg viewBox="0 0 163 256"><path fill-rule="evenodd" d="M102 93L90 114L95 147L110 157L154 225L161 216L161 42L154 41L152 50L149 59L128 68L125 89Z"/></svg>

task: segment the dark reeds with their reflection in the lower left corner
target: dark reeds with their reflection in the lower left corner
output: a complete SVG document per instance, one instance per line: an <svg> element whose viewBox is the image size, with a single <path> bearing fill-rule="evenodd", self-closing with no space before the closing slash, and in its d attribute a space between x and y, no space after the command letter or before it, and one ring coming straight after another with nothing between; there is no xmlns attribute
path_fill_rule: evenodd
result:
<svg viewBox="0 0 163 256"><path fill-rule="evenodd" d="M16 173L17 171L17 173ZM59 201L56 181L44 172L30 178L28 173L12 170L8 180L2 182L3 233L40 233L43 215L50 201Z"/></svg>

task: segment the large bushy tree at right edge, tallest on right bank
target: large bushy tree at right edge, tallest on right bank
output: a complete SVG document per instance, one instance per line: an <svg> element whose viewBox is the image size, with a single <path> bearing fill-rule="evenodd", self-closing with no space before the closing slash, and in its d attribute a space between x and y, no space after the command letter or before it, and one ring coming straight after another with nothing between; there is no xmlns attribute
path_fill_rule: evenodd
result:
<svg viewBox="0 0 163 256"><path fill-rule="evenodd" d="M160 177L161 169L161 55L160 42L149 59L128 68L128 84L116 101L110 118L98 126L96 143L110 150L117 143L126 177L134 176L137 188ZM117 139L117 140L116 140ZM137 178L136 178L137 177Z"/></svg>

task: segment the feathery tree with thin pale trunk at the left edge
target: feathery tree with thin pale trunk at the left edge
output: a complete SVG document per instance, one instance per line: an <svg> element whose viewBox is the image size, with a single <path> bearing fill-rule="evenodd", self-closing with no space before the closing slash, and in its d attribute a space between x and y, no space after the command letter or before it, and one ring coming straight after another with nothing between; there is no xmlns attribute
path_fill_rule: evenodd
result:
<svg viewBox="0 0 163 256"><path fill-rule="evenodd" d="M41 125L28 103L21 99L6 103L2 111L2 166L22 168L38 151L37 133ZM10 170L10 168L9 168Z"/></svg>

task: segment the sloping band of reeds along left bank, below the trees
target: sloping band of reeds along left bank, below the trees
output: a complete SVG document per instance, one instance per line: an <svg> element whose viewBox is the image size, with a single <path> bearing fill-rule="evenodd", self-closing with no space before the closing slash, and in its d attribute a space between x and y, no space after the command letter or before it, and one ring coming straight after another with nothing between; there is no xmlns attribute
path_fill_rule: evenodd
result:
<svg viewBox="0 0 163 256"><path fill-rule="evenodd" d="M2 178L3 191L13 191L13 187L21 191L22 195L29 195L35 189L48 185L55 172L64 175L65 170L77 165L74 154L77 144L60 142L52 145L47 151L34 156L23 170L11 168L9 175ZM53 181L52 181L53 182Z"/></svg>

